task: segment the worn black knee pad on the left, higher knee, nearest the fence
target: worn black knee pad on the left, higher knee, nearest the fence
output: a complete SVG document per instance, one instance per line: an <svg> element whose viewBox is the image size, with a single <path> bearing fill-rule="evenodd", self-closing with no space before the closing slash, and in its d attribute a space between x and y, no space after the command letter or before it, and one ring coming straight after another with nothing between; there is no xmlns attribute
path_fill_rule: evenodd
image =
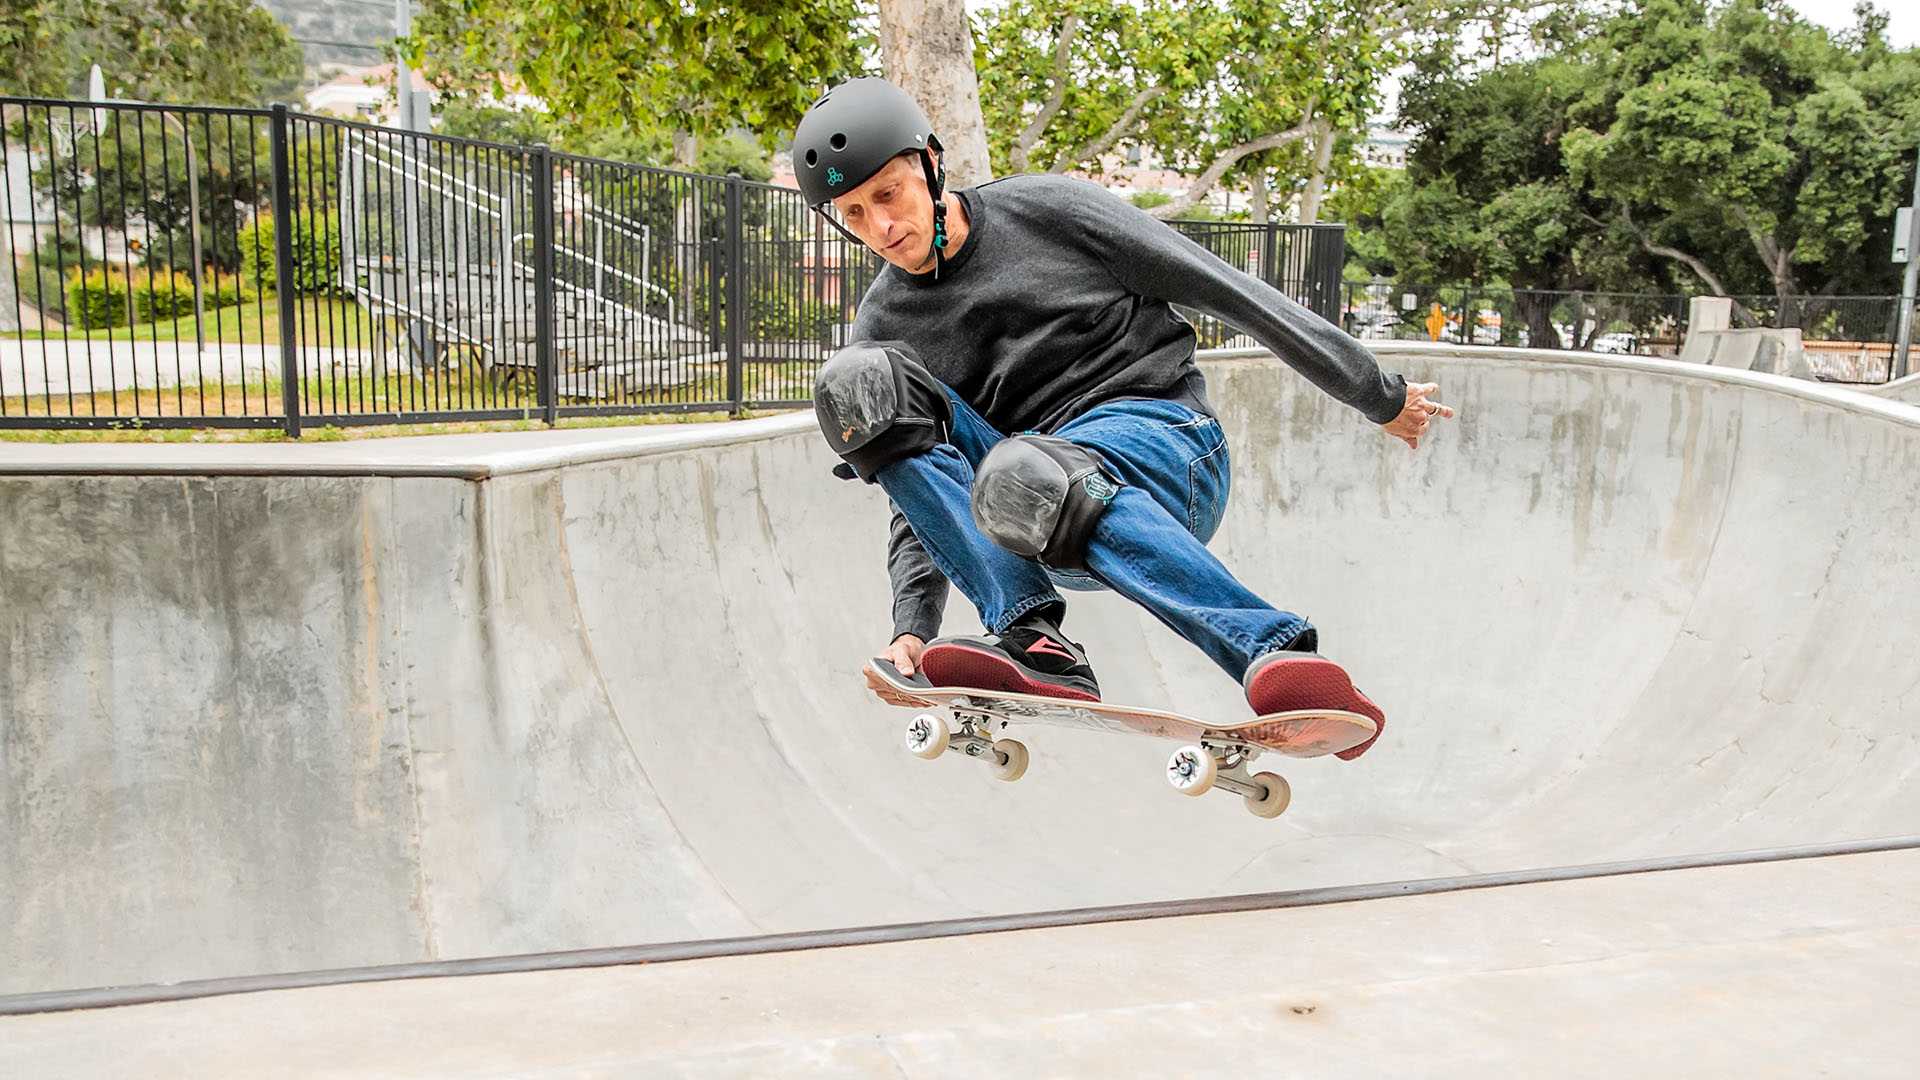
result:
<svg viewBox="0 0 1920 1080"><path fill-rule="evenodd" d="M872 484L887 465L947 442L954 417L947 388L904 342L854 342L814 379L814 419Z"/></svg>

